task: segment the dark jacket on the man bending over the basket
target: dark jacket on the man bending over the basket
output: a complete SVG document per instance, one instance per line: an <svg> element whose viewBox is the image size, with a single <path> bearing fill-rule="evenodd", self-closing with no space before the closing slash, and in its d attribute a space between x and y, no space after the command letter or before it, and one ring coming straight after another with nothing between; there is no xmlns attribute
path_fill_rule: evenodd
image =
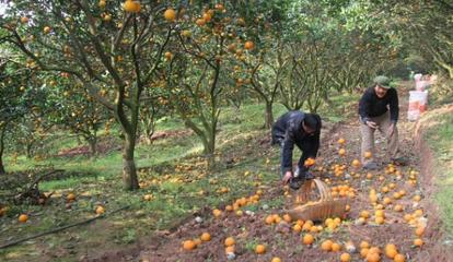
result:
<svg viewBox="0 0 453 262"><path fill-rule="evenodd" d="M305 170L304 162L309 158L315 158L320 148L321 118L315 115L318 120L318 127L313 135L305 133L302 122L305 114L302 111L289 111L281 116L272 126L272 144L281 145L281 168L282 172L292 170L292 151L294 144L303 152L299 159L298 166L301 170Z"/></svg>

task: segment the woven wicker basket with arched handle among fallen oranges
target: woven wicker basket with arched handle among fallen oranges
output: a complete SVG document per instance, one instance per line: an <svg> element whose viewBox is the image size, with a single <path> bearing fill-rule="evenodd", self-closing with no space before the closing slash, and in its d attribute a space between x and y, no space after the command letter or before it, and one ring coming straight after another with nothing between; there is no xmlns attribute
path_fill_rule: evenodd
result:
<svg viewBox="0 0 453 262"><path fill-rule="evenodd" d="M316 186L320 192L320 200L314 202L306 202L312 191L312 184ZM318 179L313 179L305 182L300 190L299 200L306 202L303 205L298 205L292 210L284 211L293 219L302 221L324 221L328 217L344 217L346 214L347 199L334 200L327 184Z"/></svg>

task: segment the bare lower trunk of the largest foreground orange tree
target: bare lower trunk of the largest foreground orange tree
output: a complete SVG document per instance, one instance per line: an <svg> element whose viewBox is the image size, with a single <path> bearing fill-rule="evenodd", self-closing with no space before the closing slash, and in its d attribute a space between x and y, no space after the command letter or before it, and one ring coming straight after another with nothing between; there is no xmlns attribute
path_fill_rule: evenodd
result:
<svg viewBox="0 0 453 262"><path fill-rule="evenodd" d="M139 189L136 162L133 152L136 148L136 135L125 133L125 144L123 146L123 183L126 190Z"/></svg>

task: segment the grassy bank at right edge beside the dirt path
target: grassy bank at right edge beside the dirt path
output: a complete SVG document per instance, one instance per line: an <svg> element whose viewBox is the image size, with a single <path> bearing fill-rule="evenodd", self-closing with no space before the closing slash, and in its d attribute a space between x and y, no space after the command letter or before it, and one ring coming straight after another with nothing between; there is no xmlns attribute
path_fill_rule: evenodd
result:
<svg viewBox="0 0 453 262"><path fill-rule="evenodd" d="M430 122L432 124L426 138L435 153L435 174L438 174L435 201L441 210L444 225L450 236L453 236L453 115L451 112L434 115Z"/></svg>

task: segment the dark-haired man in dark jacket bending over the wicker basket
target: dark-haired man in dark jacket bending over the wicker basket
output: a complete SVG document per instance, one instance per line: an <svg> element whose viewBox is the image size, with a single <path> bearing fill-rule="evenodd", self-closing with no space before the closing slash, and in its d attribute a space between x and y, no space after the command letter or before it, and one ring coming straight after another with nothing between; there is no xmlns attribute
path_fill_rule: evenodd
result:
<svg viewBox="0 0 453 262"><path fill-rule="evenodd" d="M283 183L299 189L305 179L312 179L309 167L304 165L311 157L315 158L320 148L321 118L316 114L289 111L272 126L272 144L281 148L281 175ZM302 151L298 168L292 171L292 151L294 144Z"/></svg>

